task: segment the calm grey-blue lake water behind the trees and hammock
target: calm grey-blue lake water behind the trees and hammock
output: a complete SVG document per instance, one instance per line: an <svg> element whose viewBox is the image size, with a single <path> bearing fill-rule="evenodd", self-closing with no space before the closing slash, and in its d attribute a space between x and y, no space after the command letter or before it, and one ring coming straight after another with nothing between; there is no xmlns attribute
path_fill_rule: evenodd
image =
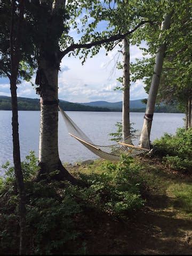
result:
<svg viewBox="0 0 192 256"><path fill-rule="evenodd" d="M121 112L82 112L67 111L73 121L92 139L95 144L109 145L109 133L115 132L115 124L121 122ZM7 160L12 163L12 127L11 111L0 111L0 166ZM131 113L134 128L141 131L144 113ZM19 134L21 159L34 150L38 155L39 111L19 111ZM165 132L174 134L184 125L184 114L155 113L151 130L151 141L160 138ZM62 162L74 163L97 158L81 143L68 135L68 131L59 113L59 154ZM2 169L0 167L2 172Z"/></svg>

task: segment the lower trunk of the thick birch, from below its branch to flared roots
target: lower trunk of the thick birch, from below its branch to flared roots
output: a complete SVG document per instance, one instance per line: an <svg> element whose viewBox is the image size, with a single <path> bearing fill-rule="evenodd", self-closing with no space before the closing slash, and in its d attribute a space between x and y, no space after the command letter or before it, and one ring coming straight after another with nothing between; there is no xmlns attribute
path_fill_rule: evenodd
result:
<svg viewBox="0 0 192 256"><path fill-rule="evenodd" d="M77 180L62 166L58 151L58 68L50 61L39 61L36 83L39 84L41 122L39 137L39 166L41 170L37 180L47 179L50 173L53 179L68 180L74 185ZM48 176L47 176L48 175Z"/></svg>

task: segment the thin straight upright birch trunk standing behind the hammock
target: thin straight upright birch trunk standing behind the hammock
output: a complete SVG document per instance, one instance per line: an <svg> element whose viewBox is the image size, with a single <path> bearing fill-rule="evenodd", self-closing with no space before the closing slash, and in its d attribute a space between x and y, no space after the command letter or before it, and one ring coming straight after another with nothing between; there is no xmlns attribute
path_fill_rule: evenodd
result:
<svg viewBox="0 0 192 256"><path fill-rule="evenodd" d="M123 141L130 135L130 44L129 38L123 39L123 107L122 131Z"/></svg>

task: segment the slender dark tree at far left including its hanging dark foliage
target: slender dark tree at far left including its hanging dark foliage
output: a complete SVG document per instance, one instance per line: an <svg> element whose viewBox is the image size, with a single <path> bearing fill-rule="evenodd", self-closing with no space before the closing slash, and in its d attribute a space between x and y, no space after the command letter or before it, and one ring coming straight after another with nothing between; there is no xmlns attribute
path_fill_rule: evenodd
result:
<svg viewBox="0 0 192 256"><path fill-rule="evenodd" d="M0 24L0 76L10 79L12 100L13 162L17 182L20 218L20 254L26 253L25 186L20 160L17 85L19 78L29 81L33 75L33 51L26 34L24 19L25 1L4 1L1 6Z"/></svg>

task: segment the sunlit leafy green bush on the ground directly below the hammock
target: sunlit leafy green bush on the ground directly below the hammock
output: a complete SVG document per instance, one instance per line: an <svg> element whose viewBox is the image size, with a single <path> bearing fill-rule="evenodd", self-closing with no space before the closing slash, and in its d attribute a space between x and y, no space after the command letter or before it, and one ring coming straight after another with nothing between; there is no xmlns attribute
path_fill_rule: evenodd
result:
<svg viewBox="0 0 192 256"><path fill-rule="evenodd" d="M133 164L132 158L122 156L117 164L106 161L102 168L99 174L81 174L90 185L84 193L86 200L119 217L140 209L144 203L140 195L142 180L138 175L141 167Z"/></svg>

